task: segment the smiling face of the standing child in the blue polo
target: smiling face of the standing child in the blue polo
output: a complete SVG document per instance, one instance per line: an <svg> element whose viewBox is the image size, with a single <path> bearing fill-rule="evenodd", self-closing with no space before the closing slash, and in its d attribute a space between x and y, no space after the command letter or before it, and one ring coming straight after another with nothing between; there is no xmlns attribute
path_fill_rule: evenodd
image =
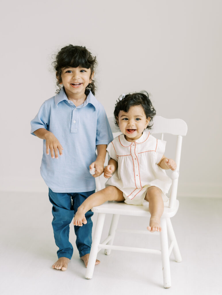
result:
<svg viewBox="0 0 222 295"><path fill-rule="evenodd" d="M61 78L65 88L67 97L75 95L84 95L86 87L92 82L94 72L91 74L91 69L77 68L62 68ZM68 97L69 98L69 97Z"/></svg>

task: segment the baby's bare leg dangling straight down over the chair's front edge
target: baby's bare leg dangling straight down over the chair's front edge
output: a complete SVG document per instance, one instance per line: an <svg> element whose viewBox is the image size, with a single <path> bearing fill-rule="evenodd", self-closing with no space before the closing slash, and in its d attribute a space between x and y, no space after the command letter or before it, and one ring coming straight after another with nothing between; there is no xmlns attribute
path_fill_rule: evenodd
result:
<svg viewBox="0 0 222 295"><path fill-rule="evenodd" d="M160 217L163 214L162 191L156 186L150 186L147 190L145 200L149 202L150 226L147 229L150 232L161 231Z"/></svg>

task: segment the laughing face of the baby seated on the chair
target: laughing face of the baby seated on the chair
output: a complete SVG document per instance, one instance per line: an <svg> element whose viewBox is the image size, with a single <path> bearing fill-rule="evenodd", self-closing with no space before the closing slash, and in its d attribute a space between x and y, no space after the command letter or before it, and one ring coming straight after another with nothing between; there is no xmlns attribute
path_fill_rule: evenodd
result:
<svg viewBox="0 0 222 295"><path fill-rule="evenodd" d="M117 122L125 139L132 142L140 138L143 130L149 124L150 118L147 119L143 107L137 105L131 106L127 113L120 111Z"/></svg>

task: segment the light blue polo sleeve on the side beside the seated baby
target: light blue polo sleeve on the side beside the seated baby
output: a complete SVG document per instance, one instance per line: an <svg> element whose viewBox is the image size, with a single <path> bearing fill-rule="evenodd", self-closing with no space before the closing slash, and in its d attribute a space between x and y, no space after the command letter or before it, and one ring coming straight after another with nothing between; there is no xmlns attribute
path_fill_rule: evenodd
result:
<svg viewBox="0 0 222 295"><path fill-rule="evenodd" d="M104 107L99 104L96 130L96 145L108 145L113 140L112 130Z"/></svg>

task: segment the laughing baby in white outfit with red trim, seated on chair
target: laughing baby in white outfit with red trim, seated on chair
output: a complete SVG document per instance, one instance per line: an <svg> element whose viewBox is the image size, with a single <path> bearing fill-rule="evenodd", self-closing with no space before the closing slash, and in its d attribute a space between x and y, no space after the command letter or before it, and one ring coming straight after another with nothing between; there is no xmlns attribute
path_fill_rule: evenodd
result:
<svg viewBox="0 0 222 295"><path fill-rule="evenodd" d="M151 214L147 229L161 231L163 202L168 201L166 193L171 185L164 170L175 170L176 163L164 155L166 142L157 140L147 130L155 114L146 91L120 96L114 117L122 134L107 147L110 160L104 176L109 179L105 189L92 194L79 206L74 225L87 224L85 213L105 201L142 205L145 199Z"/></svg>

